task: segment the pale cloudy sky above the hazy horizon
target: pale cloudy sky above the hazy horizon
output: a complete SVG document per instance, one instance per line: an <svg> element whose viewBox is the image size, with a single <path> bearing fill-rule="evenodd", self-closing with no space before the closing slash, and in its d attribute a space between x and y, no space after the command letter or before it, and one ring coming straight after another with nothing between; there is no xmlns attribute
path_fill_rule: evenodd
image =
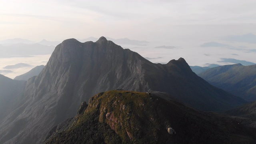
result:
<svg viewBox="0 0 256 144"><path fill-rule="evenodd" d="M256 34L256 0L0 0L0 40Z"/></svg>

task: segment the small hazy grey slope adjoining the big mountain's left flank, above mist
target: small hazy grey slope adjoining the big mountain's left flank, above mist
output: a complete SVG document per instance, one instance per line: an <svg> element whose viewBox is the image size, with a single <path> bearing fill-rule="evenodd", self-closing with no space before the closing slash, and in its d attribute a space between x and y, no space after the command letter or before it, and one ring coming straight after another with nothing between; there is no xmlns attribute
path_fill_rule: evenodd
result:
<svg viewBox="0 0 256 144"><path fill-rule="evenodd" d="M28 80L32 76L37 76L38 74L40 74L43 68L44 68L44 65L36 66L32 68L32 70L30 70L29 72L26 72L25 74L22 74L20 76L16 76L14 80Z"/></svg>

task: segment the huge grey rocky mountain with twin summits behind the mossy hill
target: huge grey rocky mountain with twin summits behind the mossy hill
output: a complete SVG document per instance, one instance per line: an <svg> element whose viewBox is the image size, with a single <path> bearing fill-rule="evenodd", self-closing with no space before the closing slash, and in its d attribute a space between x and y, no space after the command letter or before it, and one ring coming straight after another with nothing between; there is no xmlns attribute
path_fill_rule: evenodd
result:
<svg viewBox="0 0 256 144"><path fill-rule="evenodd" d="M20 113L0 124L5 129L0 143L40 143L54 125L74 116L82 101L119 88L167 92L200 110L221 111L245 102L198 77L183 58L153 64L104 37L85 43L68 39L56 46L42 72L27 81Z"/></svg>

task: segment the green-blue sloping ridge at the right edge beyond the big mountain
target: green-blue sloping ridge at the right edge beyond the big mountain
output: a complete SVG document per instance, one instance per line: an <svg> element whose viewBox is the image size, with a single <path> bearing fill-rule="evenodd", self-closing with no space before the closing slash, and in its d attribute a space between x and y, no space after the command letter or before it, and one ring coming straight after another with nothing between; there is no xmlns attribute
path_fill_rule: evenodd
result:
<svg viewBox="0 0 256 144"><path fill-rule="evenodd" d="M256 100L256 65L218 66L200 73L199 76L210 84L245 100Z"/></svg>

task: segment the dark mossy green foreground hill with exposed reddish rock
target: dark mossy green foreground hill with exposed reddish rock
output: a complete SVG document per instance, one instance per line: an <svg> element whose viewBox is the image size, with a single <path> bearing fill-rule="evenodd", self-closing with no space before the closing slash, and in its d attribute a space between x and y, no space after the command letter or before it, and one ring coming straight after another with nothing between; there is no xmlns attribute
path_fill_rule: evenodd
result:
<svg viewBox="0 0 256 144"><path fill-rule="evenodd" d="M77 116L55 126L44 144L254 144L255 132L228 116L152 94L108 91L82 103Z"/></svg>

